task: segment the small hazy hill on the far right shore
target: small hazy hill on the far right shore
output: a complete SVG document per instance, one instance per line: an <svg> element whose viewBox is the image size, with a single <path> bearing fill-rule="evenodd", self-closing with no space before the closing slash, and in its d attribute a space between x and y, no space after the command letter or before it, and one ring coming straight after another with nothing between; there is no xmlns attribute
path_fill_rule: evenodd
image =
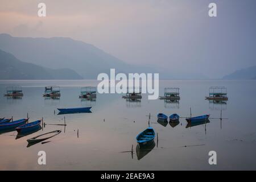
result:
<svg viewBox="0 0 256 182"><path fill-rule="evenodd" d="M237 70L230 75L224 76L223 79L256 79L256 66Z"/></svg>

